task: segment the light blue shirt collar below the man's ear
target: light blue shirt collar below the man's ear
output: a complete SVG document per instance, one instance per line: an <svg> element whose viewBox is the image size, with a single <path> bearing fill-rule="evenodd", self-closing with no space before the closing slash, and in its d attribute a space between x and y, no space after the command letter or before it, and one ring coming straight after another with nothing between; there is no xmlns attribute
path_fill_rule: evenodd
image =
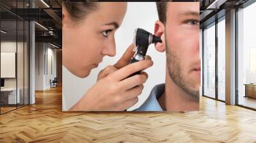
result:
<svg viewBox="0 0 256 143"><path fill-rule="evenodd" d="M165 92L165 84L155 86L147 100L136 111L163 111L157 99Z"/></svg>

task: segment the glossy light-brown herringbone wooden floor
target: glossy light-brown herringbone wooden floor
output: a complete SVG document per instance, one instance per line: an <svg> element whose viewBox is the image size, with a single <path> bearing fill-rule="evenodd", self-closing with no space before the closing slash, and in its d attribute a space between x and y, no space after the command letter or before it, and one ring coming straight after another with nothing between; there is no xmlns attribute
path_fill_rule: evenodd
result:
<svg viewBox="0 0 256 143"><path fill-rule="evenodd" d="M0 116L0 142L256 142L256 112L200 99L198 112L61 112L61 88Z"/></svg>

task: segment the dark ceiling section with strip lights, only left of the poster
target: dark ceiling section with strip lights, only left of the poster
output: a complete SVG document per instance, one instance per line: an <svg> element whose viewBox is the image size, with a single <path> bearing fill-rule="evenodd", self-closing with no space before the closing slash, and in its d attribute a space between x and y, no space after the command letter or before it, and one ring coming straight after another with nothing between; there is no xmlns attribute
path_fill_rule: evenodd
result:
<svg viewBox="0 0 256 143"><path fill-rule="evenodd" d="M28 26L26 21L31 20L36 22L36 42L49 42L61 47L61 3L61 0L1 0L1 29L8 32L1 33L1 38L16 40L16 36L18 39L23 37L28 32L28 27L24 27Z"/></svg>

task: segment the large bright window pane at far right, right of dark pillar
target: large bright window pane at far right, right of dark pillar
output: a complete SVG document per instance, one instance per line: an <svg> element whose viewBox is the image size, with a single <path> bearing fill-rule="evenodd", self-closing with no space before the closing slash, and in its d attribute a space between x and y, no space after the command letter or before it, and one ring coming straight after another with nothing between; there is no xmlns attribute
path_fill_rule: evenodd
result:
<svg viewBox="0 0 256 143"><path fill-rule="evenodd" d="M256 3L238 11L238 104L256 109Z"/></svg>

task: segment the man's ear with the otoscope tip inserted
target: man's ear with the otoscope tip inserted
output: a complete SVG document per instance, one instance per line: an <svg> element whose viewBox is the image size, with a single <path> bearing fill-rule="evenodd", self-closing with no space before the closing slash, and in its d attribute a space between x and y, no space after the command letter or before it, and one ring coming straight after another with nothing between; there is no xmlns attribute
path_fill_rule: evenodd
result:
<svg viewBox="0 0 256 143"><path fill-rule="evenodd" d="M155 22L154 35L161 37L162 43L158 42L155 44L156 50L159 52L165 51L165 36L164 36L164 24L157 20Z"/></svg>

